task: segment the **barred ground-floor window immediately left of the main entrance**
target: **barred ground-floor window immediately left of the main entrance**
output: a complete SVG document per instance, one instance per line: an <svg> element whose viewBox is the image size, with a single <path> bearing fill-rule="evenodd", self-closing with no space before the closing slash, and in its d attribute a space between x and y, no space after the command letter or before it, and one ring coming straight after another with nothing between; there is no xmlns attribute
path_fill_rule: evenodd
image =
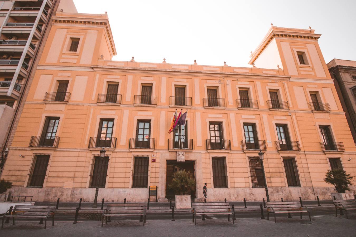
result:
<svg viewBox="0 0 356 237"><path fill-rule="evenodd" d="M147 155L133 157L132 188L147 188L149 159Z"/></svg>

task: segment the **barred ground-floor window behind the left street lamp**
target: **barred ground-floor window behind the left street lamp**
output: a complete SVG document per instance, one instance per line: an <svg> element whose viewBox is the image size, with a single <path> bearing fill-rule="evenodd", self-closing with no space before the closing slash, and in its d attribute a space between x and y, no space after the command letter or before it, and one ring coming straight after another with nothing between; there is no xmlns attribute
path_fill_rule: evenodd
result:
<svg viewBox="0 0 356 237"><path fill-rule="evenodd" d="M106 176L108 173L109 156L100 157L95 155L93 157L93 165L91 166L91 181L90 188L105 188Z"/></svg>

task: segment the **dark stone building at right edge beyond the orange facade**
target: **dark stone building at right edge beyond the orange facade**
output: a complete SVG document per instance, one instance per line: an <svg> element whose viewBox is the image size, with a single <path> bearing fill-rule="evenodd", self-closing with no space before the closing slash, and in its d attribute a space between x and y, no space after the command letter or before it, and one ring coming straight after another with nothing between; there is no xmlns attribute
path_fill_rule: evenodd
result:
<svg viewBox="0 0 356 237"><path fill-rule="evenodd" d="M356 61L333 59L328 68L356 144Z"/></svg>

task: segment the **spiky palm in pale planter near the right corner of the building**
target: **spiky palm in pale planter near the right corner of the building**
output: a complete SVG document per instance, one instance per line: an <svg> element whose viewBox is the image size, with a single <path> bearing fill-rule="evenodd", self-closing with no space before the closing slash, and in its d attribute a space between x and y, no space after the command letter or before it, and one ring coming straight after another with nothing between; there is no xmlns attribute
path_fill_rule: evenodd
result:
<svg viewBox="0 0 356 237"><path fill-rule="evenodd" d="M338 196L338 199L349 199L346 198L346 191L350 191L351 189L349 188L349 185L352 185L351 180L352 180L351 174L346 174L346 171L343 169L328 169L328 172L326 172L324 181L326 183L334 185L334 190L337 193L331 193L331 196ZM339 195L337 195L339 194ZM344 194L344 195L341 195ZM353 194L350 193L351 199L353 199Z"/></svg>

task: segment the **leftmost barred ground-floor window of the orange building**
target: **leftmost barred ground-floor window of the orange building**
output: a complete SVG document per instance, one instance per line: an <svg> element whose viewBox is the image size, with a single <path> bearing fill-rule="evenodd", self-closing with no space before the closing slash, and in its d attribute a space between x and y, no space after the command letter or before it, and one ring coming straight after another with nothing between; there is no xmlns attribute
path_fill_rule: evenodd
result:
<svg viewBox="0 0 356 237"><path fill-rule="evenodd" d="M35 154L28 174L27 187L42 188L45 182L50 154Z"/></svg>

